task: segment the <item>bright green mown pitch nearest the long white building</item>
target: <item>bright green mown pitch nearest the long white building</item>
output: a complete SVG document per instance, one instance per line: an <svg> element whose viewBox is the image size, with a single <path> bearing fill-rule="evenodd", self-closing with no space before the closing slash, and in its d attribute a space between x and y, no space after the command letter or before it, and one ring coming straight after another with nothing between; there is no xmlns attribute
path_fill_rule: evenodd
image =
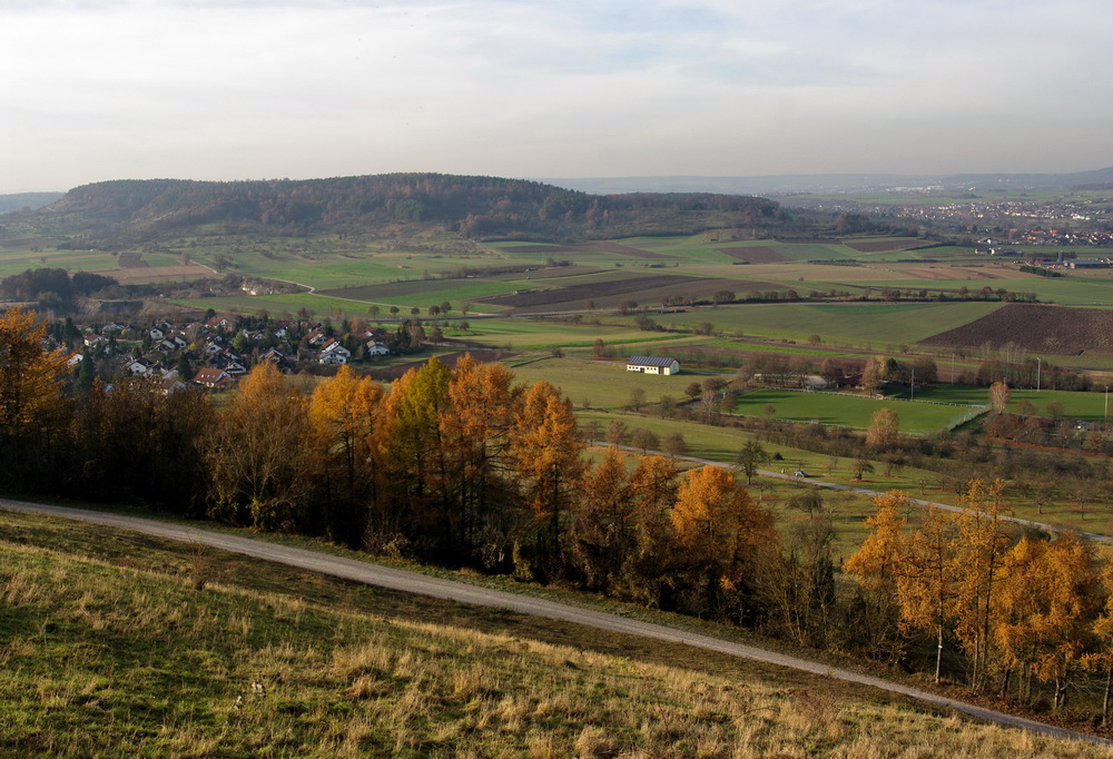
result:
<svg viewBox="0 0 1113 759"><path fill-rule="evenodd" d="M971 406L942 403L867 398L846 393L796 392L762 388L737 396L736 414L768 416L786 422L829 424L865 430L870 417L881 408L890 408L900 420L900 432L926 435L938 432L967 416Z"/></svg>

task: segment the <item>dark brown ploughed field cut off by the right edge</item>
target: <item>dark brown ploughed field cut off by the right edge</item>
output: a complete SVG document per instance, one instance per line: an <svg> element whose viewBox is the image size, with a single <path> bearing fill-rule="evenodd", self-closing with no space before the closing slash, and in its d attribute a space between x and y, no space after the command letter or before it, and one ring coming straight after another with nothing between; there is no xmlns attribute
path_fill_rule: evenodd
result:
<svg viewBox="0 0 1113 759"><path fill-rule="evenodd" d="M1011 303L920 343L944 347L997 347L1013 343L1028 351L1063 356L1113 355L1113 310Z"/></svg>

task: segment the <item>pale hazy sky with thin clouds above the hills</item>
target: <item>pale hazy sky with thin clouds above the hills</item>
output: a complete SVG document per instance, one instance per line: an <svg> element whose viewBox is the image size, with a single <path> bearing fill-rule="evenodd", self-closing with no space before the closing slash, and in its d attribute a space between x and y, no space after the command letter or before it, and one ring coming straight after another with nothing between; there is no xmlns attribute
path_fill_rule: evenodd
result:
<svg viewBox="0 0 1113 759"><path fill-rule="evenodd" d="M1109 0L0 0L0 193L1113 165Z"/></svg>

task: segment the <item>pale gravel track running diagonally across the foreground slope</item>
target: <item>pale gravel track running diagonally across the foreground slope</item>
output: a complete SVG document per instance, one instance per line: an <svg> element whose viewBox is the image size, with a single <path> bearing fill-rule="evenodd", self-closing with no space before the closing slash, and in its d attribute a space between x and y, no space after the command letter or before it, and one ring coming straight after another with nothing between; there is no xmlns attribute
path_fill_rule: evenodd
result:
<svg viewBox="0 0 1113 759"><path fill-rule="evenodd" d="M156 522L154 520L137 516L122 516L119 514L28 503L24 501L11 501L7 499L0 499L0 509L13 512L61 516L65 519L79 520L93 524L104 524L124 530L132 530L148 535L167 538L169 540L183 541L187 543L200 543L203 545L223 551L232 551L234 553L240 553L278 564L296 566L298 569L321 572L322 574L343 578L345 580L353 580L355 582L362 582L370 585L377 585L380 588L388 588L391 590L403 591L406 593L416 593L420 595L455 601L457 603L509 609L523 614L534 614L563 622L573 622L599 630L608 630L630 635L641 635L672 643L682 643L684 645L691 645L693 648L708 651L717 651L731 657L760 661L769 664L778 664L780 667L788 667L795 670L811 672L814 674L836 680L845 680L847 682L870 686L873 688L878 688L892 693L899 693L937 707L953 708L978 719L994 722L1003 727L1020 728L1048 736L1085 740L1102 746L1113 747L1113 741L1104 740L1095 736L1087 736L1073 730L1065 730L1050 724L1044 724L1042 722L1036 722L1034 720L1027 720L1021 717L1006 714L1004 712L984 709L971 703L955 701L930 691L910 688L908 686L890 682L888 680L870 677L868 674L861 674L851 670L833 668L819 662L800 659L798 657L790 657L775 651L766 651L752 645L719 640L684 630L677 630L662 624L626 619L617 614L608 614L589 609L581 609L570 604L556 603L525 595L516 595L514 593L469 585L465 583L453 582L451 580L429 578L422 574L406 572L404 570L380 566L377 564L356 561L354 559L344 559L342 556L334 556L325 553L317 553L305 549L278 545L253 538L211 532L189 525Z"/></svg>

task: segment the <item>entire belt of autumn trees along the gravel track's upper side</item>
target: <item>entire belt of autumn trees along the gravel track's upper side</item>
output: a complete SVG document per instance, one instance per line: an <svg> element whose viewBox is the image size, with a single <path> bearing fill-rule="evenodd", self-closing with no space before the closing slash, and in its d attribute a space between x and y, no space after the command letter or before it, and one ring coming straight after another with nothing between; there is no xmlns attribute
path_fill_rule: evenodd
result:
<svg viewBox="0 0 1113 759"><path fill-rule="evenodd" d="M433 358L387 393L348 366L311 392L263 363L215 404L142 378L76 390L46 333L32 312L0 317L8 493L582 589L1036 710L1061 712L1090 672L1113 672L1113 565L1075 535L1004 520L1001 480L968 481L967 511L918 520L904 495L878 496L844 562L818 491L778 526L731 469L589 456L570 401L501 364ZM1107 686L1087 706L1104 720Z"/></svg>

